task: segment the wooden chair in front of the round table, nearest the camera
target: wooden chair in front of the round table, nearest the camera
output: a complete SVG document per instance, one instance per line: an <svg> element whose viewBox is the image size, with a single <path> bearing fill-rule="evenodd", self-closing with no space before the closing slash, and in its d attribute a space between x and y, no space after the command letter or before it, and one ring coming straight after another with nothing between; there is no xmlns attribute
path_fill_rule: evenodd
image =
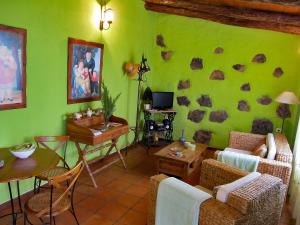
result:
<svg viewBox="0 0 300 225"><path fill-rule="evenodd" d="M35 216L44 224L49 220L55 224L55 217L70 210L76 223L79 225L75 214L73 195L76 181L83 169L83 163L80 161L73 169L63 174L48 177L50 189L35 194L24 205L24 225L32 224L28 216ZM67 185L66 185L67 183ZM48 224L48 223L47 223Z"/></svg>

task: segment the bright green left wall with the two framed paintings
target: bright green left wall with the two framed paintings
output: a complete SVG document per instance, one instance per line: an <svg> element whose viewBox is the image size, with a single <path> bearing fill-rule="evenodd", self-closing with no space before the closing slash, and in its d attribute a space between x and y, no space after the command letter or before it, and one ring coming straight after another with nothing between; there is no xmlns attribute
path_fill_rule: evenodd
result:
<svg viewBox="0 0 300 225"><path fill-rule="evenodd" d="M103 80L113 95L122 93L115 114L134 124L137 82L124 76L122 66L129 60L138 63L142 53L150 56L156 16L143 10L142 1L111 0L108 5L115 20L101 32L96 0L1 1L0 23L27 29L27 108L0 111L0 148L32 141L35 135L64 134L66 113L101 106L67 105L68 37L104 44ZM120 147L126 141L120 140ZM73 143L68 159L77 160ZM30 190L32 183L22 181L21 191ZM0 193L0 202L8 199L6 184Z"/></svg>

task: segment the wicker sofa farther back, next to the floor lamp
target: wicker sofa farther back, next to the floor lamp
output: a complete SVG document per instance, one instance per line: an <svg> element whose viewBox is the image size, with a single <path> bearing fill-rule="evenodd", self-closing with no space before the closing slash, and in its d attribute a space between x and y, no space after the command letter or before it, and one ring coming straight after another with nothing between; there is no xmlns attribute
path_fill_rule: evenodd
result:
<svg viewBox="0 0 300 225"><path fill-rule="evenodd" d="M275 160L260 158L257 171L279 177L284 184L289 185L293 154L289 143L283 134L275 134L274 137L276 143ZM264 143L266 143L265 135L231 131L228 147L252 151L257 146ZM215 154L215 158L216 157L217 152Z"/></svg>

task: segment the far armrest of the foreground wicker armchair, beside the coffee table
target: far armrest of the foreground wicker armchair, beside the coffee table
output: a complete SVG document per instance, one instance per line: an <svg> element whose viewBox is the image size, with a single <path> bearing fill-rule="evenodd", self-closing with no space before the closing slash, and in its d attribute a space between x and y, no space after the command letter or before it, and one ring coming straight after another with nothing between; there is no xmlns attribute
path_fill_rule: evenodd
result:
<svg viewBox="0 0 300 225"><path fill-rule="evenodd" d="M214 159L202 162L200 172L200 185L213 190L215 186L231 183L247 175L248 172L226 165Z"/></svg>

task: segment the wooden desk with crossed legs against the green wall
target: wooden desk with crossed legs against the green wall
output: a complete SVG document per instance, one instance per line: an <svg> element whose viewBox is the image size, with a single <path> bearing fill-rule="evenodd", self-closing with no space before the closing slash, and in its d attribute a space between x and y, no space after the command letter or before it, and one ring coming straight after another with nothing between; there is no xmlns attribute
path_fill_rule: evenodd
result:
<svg viewBox="0 0 300 225"><path fill-rule="evenodd" d="M119 159L122 161L124 168L126 169L126 163L121 152L117 148L117 142L120 136L128 133L128 123L122 118L112 116L110 119L111 126L108 129L101 131L104 126L103 123L103 115L84 117L79 120L69 118L67 121L67 134L70 136L70 140L75 142L79 160L83 161L95 188L98 186L94 179L94 174L119 161ZM100 133L97 133L99 131ZM84 144L83 147L81 147L80 144ZM90 148L91 146L95 147ZM97 157L94 160L87 160L88 155L102 151L105 148L108 148L105 156ZM107 157L113 148L116 149L119 159L92 171L89 164Z"/></svg>

